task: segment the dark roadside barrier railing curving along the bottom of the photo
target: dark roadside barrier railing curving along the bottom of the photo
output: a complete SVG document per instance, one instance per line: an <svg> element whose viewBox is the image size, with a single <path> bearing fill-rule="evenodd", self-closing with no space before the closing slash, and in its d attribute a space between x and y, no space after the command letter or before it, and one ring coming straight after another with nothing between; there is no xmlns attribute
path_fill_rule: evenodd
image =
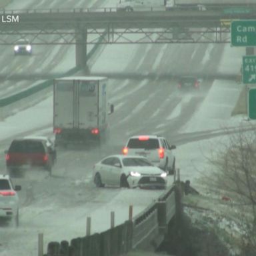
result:
<svg viewBox="0 0 256 256"><path fill-rule="evenodd" d="M159 245L166 233L169 221L175 216L175 189L170 187L162 197L133 219L93 235L68 241L50 242L44 256L120 256L135 248ZM39 252L39 255L43 253Z"/></svg>

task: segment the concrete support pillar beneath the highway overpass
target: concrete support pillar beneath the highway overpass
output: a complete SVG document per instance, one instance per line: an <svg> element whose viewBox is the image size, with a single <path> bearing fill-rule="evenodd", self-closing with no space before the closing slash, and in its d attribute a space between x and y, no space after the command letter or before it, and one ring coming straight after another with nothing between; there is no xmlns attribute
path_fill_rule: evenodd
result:
<svg viewBox="0 0 256 256"><path fill-rule="evenodd" d="M75 39L75 65L86 67L87 64L87 29L79 28L76 30Z"/></svg>

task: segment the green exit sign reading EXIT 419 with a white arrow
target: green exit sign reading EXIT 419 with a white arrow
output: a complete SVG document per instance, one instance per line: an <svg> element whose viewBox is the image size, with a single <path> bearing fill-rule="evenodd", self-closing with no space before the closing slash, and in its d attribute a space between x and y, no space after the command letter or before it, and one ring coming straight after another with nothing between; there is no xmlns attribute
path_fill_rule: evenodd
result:
<svg viewBox="0 0 256 256"><path fill-rule="evenodd" d="M243 56L243 83L256 83L256 55Z"/></svg>

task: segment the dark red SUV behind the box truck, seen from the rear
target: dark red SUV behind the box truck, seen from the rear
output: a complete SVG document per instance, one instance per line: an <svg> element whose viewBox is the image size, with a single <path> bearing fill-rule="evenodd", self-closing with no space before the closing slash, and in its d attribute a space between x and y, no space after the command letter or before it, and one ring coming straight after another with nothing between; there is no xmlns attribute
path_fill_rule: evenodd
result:
<svg viewBox="0 0 256 256"><path fill-rule="evenodd" d="M7 171L19 171L26 167L43 167L51 173L56 151L44 139L15 139L5 151Z"/></svg>

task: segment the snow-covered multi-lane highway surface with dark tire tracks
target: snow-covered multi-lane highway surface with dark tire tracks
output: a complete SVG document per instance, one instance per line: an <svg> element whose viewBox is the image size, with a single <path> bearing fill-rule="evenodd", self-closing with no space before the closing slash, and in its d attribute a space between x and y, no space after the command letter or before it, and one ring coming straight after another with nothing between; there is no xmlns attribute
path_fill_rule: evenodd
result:
<svg viewBox="0 0 256 256"><path fill-rule="evenodd" d="M39 7L83 7L103 5L103 1L13 1L10 9ZM71 3L72 2L72 3ZM113 1L111 2L113 4ZM109 2L110 4L110 2ZM3 47L3 46L1 46ZM54 49L41 46L27 63L15 59L12 49L5 49L0 67L6 73L47 72L58 59L61 70L74 65L72 47ZM8 50L7 50L8 49ZM66 54L67 53L67 54ZM89 61L93 73L223 73L236 75L241 65L244 49L229 45L108 45L99 47ZM56 58L56 55L58 56ZM4 59L9 60L6 65ZM15 59L15 60L13 60ZM43 64L42 64L43 63ZM23 83L24 82L24 83ZM6 82L7 83L7 82ZM26 81L22 81L25 86ZM8 84L3 85L5 90ZM110 79L109 93L115 113L110 116L111 141L104 147L73 147L57 149L57 165L53 176L47 172L27 171L24 177L14 179L23 186L20 193L20 227L15 229L6 223L0 227L0 255L29 256L37 254L37 234L44 234L46 249L49 241L61 241L85 234L86 217L92 217L92 232L108 229L110 211L116 212L116 223L128 218L128 207L133 204L134 214L153 202L163 191L97 189L91 182L93 164L101 157L121 152L127 137L133 134L162 134L169 140L179 141L175 155L182 179L197 183L205 167L204 154L213 149L215 139L187 143L184 134L221 129L241 123L243 117L231 118L241 91L235 81L203 79L201 89L181 92L177 81L166 79ZM0 94L1 94L0 93ZM230 97L224 97L231 93ZM221 97L223 96L223 97ZM23 135L49 135L52 133L53 97L1 121L0 151L9 146L11 139ZM245 125L247 124L246 122ZM211 135L209 135L211 137ZM0 173L5 173L4 154L0 159ZM169 177L169 184L172 177ZM33 198L27 201L26 191L33 188Z"/></svg>

